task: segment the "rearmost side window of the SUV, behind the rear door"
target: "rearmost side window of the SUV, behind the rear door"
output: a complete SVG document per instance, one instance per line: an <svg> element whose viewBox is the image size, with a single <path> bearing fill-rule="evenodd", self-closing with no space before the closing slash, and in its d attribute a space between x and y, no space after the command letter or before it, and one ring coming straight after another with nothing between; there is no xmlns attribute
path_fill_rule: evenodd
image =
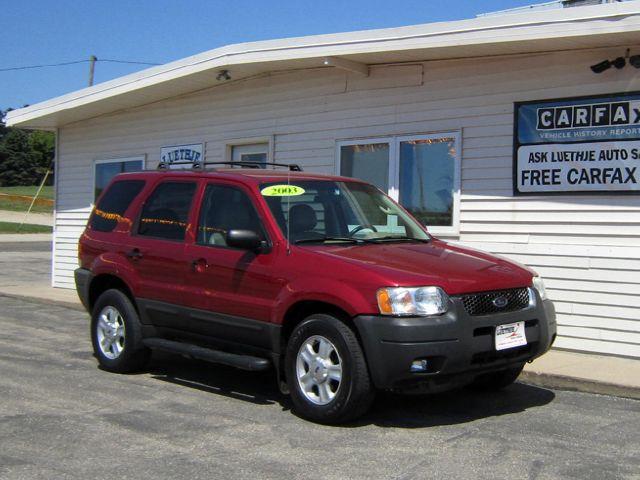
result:
<svg viewBox="0 0 640 480"><path fill-rule="evenodd" d="M144 187L142 180L124 180L111 185L93 210L89 228L98 232L113 231L142 187Z"/></svg>

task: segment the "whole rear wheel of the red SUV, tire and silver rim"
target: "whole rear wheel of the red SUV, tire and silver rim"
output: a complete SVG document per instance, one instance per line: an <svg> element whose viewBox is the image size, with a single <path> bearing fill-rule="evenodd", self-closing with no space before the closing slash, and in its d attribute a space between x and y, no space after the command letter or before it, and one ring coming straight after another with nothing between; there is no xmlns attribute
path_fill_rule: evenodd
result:
<svg viewBox="0 0 640 480"><path fill-rule="evenodd" d="M98 363L110 372L141 370L151 355L142 344L138 312L120 290L107 290L98 297L91 315L91 343Z"/></svg>

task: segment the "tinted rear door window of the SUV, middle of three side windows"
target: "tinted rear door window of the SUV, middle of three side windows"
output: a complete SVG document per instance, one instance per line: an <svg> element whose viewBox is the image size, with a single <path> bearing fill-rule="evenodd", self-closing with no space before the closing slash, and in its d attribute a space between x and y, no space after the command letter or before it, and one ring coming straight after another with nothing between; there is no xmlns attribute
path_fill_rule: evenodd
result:
<svg viewBox="0 0 640 480"><path fill-rule="evenodd" d="M183 241L196 184L165 182L156 187L140 215L138 234Z"/></svg>

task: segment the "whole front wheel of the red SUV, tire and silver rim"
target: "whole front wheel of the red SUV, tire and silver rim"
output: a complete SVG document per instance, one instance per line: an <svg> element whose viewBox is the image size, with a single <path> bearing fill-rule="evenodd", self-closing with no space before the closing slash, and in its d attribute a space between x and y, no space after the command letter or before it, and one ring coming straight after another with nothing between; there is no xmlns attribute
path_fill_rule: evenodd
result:
<svg viewBox="0 0 640 480"><path fill-rule="evenodd" d="M363 415L373 402L358 339L331 315L311 315L295 327L285 369L295 409L308 420L344 423Z"/></svg>

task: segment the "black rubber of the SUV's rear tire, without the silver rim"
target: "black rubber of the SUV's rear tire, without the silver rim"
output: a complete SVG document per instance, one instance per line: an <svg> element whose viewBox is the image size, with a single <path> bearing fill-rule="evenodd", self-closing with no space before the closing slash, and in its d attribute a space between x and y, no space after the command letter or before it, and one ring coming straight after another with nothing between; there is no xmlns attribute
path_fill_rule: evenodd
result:
<svg viewBox="0 0 640 480"><path fill-rule="evenodd" d="M124 323L124 340L119 342L122 351L116 358L109 358L103 352L98 340L100 315L108 307L115 308ZM151 355L151 351L142 344L138 312L129 297L120 290L107 290L98 297L91 315L91 343L98 363L110 372L131 373L139 371L145 367Z"/></svg>

